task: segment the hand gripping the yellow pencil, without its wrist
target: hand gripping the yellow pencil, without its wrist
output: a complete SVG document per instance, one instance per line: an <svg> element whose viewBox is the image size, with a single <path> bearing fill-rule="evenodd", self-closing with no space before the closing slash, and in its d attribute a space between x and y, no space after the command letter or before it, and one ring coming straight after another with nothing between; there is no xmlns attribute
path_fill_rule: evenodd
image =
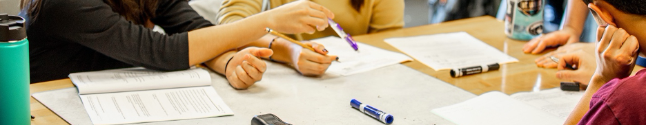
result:
<svg viewBox="0 0 646 125"><path fill-rule="evenodd" d="M313 47L315 52L300 45L291 45L291 62L293 67L303 76L320 76L337 60L337 56L328 56L328 51L323 45L314 42L304 42L305 45Z"/></svg>

